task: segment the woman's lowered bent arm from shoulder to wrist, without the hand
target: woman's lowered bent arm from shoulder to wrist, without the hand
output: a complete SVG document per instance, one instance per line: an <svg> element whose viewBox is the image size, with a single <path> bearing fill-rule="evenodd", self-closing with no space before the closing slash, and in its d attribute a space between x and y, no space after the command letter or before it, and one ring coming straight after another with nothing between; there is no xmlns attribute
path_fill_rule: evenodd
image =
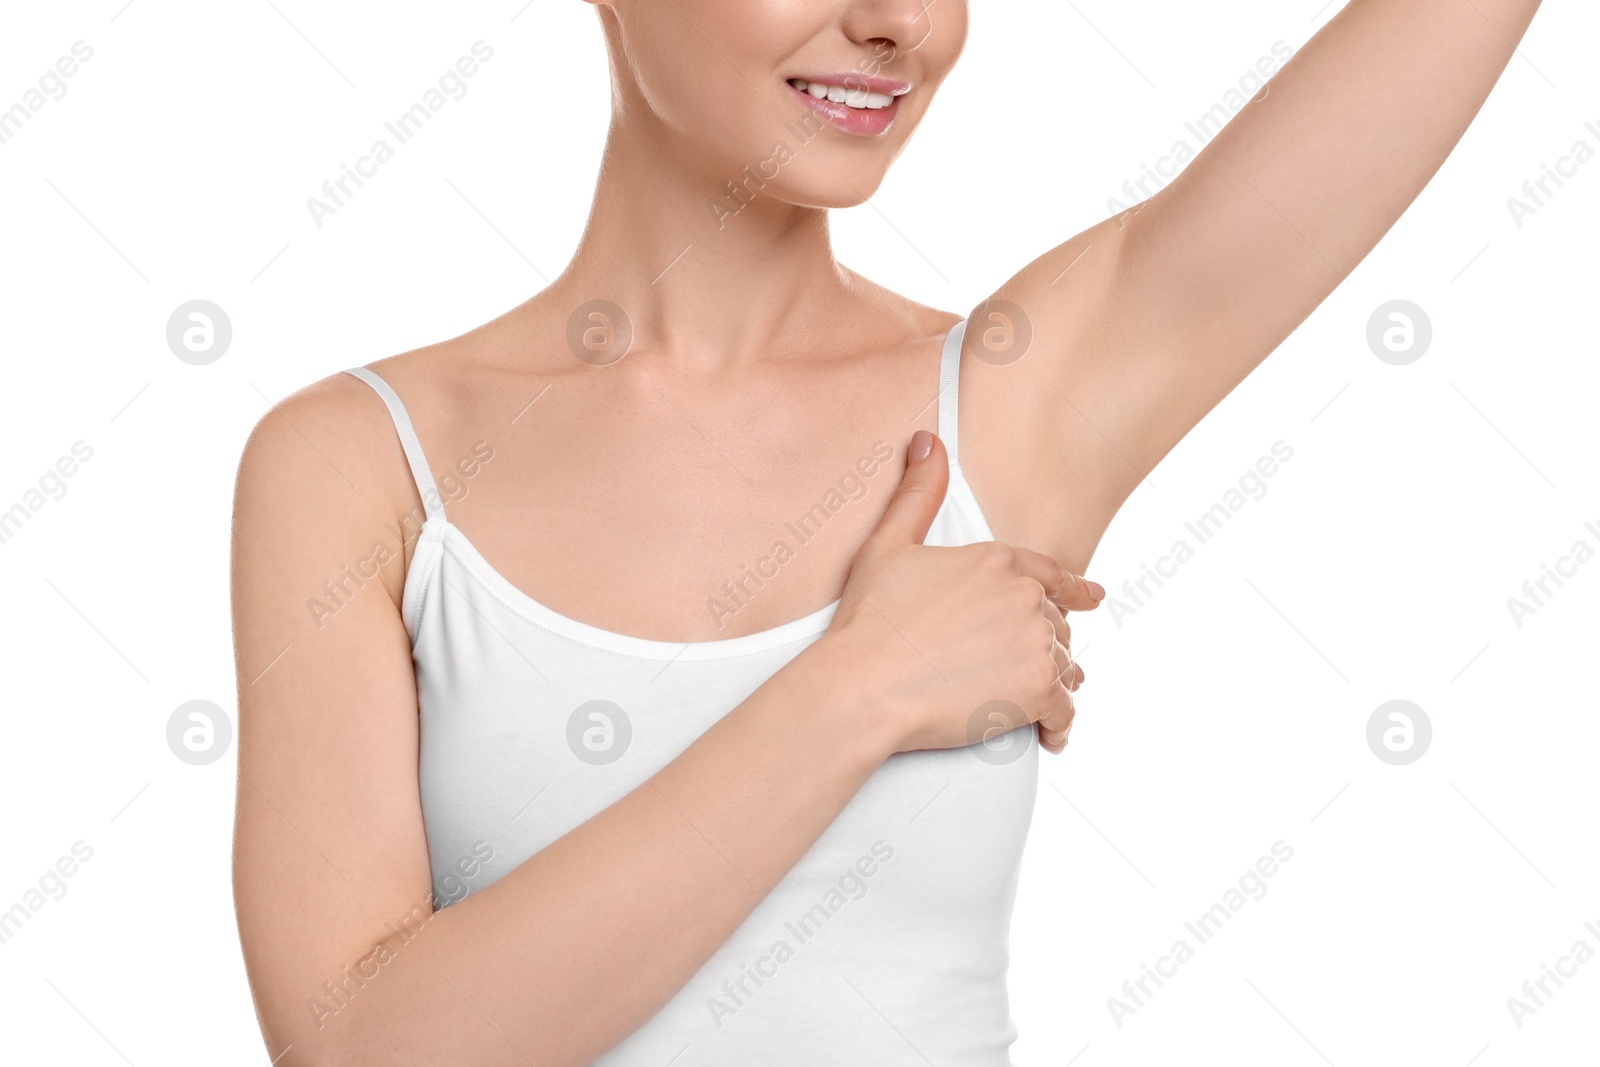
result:
<svg viewBox="0 0 1600 1067"><path fill-rule="evenodd" d="M429 913L402 560L320 629L306 609L397 510L352 490L402 462L381 410L352 400L360 389L330 379L269 413L235 498L235 904L269 1056L587 1064L805 854L894 750L875 725L888 720L858 702L824 637L648 782ZM419 905L429 917L402 942L390 926ZM381 968L355 989L347 968L379 945ZM354 993L330 1013L341 982Z"/></svg>

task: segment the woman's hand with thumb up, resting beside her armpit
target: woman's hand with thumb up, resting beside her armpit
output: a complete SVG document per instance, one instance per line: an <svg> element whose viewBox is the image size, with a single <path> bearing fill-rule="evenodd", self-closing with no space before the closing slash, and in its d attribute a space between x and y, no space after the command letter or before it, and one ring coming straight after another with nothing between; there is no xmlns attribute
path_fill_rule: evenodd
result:
<svg viewBox="0 0 1600 1067"><path fill-rule="evenodd" d="M1024 723L1061 752L1083 681L1062 611L1088 611L1106 593L1029 549L923 545L949 477L944 445L918 430L827 637L859 649L850 683L894 715L894 752L955 749Z"/></svg>

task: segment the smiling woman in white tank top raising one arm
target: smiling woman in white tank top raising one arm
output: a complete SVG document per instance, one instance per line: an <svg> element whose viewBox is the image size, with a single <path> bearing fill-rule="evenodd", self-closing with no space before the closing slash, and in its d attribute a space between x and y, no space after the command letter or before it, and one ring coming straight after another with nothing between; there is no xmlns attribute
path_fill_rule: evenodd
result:
<svg viewBox="0 0 1600 1067"><path fill-rule="evenodd" d="M1038 749L1083 677L1062 611L1104 595L1078 574L1538 0L1350 0L1178 179L966 317L827 237L962 0L590 2L613 120L568 269L301 390L240 466L269 1053L1006 1064Z"/></svg>

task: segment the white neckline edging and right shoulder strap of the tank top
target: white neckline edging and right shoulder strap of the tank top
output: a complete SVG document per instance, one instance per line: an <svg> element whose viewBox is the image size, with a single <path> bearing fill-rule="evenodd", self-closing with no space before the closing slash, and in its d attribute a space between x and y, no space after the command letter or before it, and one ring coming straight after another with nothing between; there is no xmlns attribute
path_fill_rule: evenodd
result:
<svg viewBox="0 0 1600 1067"><path fill-rule="evenodd" d="M966 482L966 472L962 470L957 451L957 427L944 426L946 414L952 416L952 422L958 418L957 398L960 395L960 342L966 333L966 318L962 318L954 323L946 331L944 341L941 342L939 394L934 397L934 403L938 403L938 434L946 442L946 450L950 456L950 482L946 490L944 501L934 514L934 522L938 522L938 517L944 515L946 509L955 502L966 512L968 518L974 523L982 537L992 539L994 534L989 526L989 517L984 515L982 507L978 504L978 498L973 494L973 490ZM949 346L952 342L957 344L957 350L954 357L947 360L946 354L949 352ZM949 398L946 398L947 389L950 392ZM437 534L434 533L435 530L438 531ZM840 605L840 598L835 598L816 611L800 616L798 619L789 619L787 622L779 622L778 625L755 630L752 633L739 633L736 637L720 637L701 641L662 641L658 638L637 637L619 630L610 630L592 622L584 622L582 619L574 619L573 616L563 614L536 600L506 577L499 568L490 563L467 533L461 526L450 522L443 509L424 520L422 526L418 530L418 549L421 549L424 542L434 539L438 541L442 552L451 552L458 557L467 573L477 579L478 585L483 587L486 593L494 597L494 600L498 600L504 608L522 619L576 645L619 656L632 656L635 659L698 661L766 653L822 633L827 630L829 622L832 622ZM418 587L419 579L414 579L413 573L418 569L418 561L421 558L422 552L413 550L411 558L406 561L405 584L402 587L402 616L408 624L419 622L414 613L421 609L421 605L416 603L416 597L421 595L421 589ZM419 635L413 632L411 637L414 646Z"/></svg>

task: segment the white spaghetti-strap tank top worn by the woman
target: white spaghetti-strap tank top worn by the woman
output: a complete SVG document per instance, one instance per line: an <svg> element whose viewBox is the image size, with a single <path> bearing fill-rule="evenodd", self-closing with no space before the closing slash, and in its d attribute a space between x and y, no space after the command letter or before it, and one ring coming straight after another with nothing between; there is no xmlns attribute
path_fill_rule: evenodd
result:
<svg viewBox="0 0 1600 1067"><path fill-rule="evenodd" d="M950 486L930 545L994 539L957 458L965 326L950 330L941 358ZM424 504L402 613L440 904L632 792L827 629L838 601L758 633L690 643L552 611L445 518L389 384L365 366L347 373L389 406ZM899 467L878 474L898 480ZM834 507L827 498L824 507ZM595 1064L1011 1067L1008 936L1037 776L1032 728L891 755L688 985Z"/></svg>

